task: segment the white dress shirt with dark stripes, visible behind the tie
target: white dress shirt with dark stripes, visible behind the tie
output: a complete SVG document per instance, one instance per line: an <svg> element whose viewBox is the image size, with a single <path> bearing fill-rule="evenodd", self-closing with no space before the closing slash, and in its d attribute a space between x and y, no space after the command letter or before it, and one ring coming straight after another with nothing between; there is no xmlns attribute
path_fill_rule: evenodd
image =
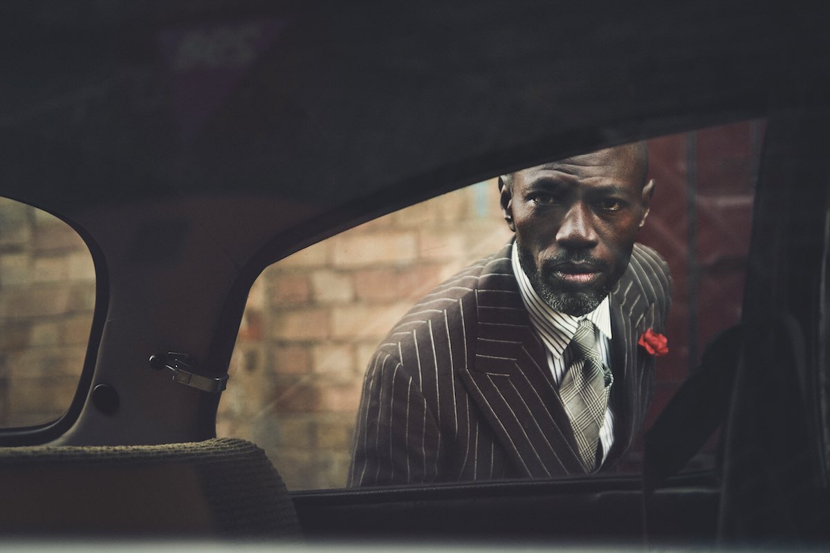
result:
<svg viewBox="0 0 830 553"><path fill-rule="evenodd" d="M583 318L587 318L597 327L599 355L603 358L603 363L611 368L613 372L611 364L611 311L608 297L604 298L591 313L586 313L581 317L560 313L550 307L530 284L530 279L527 278L524 269L521 268L518 248L513 248L510 261L513 265L516 281L519 283L522 302L525 303L525 308L527 308L527 313L530 316L530 323L544 344L550 374L555 385L558 387L562 384L562 379L565 372L568 371L568 367L577 371L582 369L584 361L574 361L574 357L579 356L575 354L574 348L568 347L568 345L574 338L574 332L576 332L579 321ZM605 409L603 426L599 429L599 443L602 445L603 457L601 460L604 463L614 443L614 415L610 403ZM602 463L599 463L597 469L602 466Z"/></svg>

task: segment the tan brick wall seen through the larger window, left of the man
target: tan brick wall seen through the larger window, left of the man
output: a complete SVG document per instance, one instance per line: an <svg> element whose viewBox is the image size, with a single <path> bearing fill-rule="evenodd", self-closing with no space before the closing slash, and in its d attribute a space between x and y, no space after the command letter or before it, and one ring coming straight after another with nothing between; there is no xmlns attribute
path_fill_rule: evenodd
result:
<svg viewBox="0 0 830 553"><path fill-rule="evenodd" d="M510 235L491 180L271 265L248 298L218 434L266 449L291 489L343 487L374 348L418 298Z"/></svg>

